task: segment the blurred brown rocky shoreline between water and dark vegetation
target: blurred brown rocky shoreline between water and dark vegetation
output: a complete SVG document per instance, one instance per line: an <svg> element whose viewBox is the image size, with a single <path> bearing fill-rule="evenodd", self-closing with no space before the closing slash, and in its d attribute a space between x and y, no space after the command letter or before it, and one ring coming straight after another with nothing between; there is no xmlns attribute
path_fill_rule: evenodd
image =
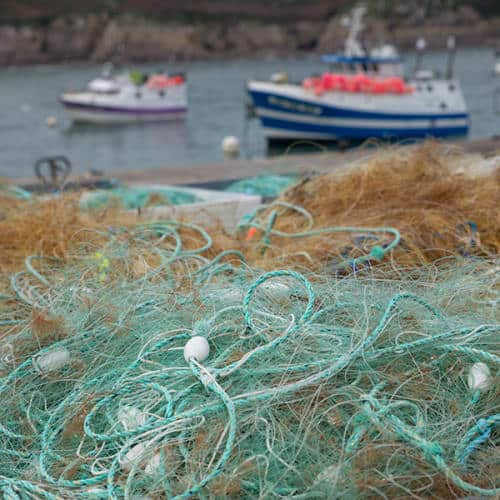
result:
<svg viewBox="0 0 500 500"><path fill-rule="evenodd" d="M324 21L268 23L166 23L107 15L58 17L43 25L0 25L0 65L118 60L184 61L237 57L289 56L341 48L346 28L340 16ZM500 42L500 17L483 19L472 10L422 22L367 22L370 42L390 41L413 48L424 36L430 49L444 48L453 34L459 47Z"/></svg>

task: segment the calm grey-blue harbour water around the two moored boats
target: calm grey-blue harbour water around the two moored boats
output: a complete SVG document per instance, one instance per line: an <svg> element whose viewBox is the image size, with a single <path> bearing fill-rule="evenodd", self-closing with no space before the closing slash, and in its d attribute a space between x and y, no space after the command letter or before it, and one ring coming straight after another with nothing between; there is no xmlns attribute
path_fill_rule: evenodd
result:
<svg viewBox="0 0 500 500"><path fill-rule="evenodd" d="M446 55L433 53L428 67L443 68ZM413 56L407 57L409 67ZM500 78L492 76L491 50L462 50L457 55L460 77L469 105L470 137L500 132L500 114L495 114L494 90ZM148 70L158 66L140 66ZM28 176L41 156L64 154L74 171L139 169L165 165L208 164L222 159L221 139L243 137L244 83L252 77L267 78L285 70L301 79L324 66L316 57L294 60L187 63L190 109L185 122L92 126L71 125L57 99L61 92L83 88L100 73L95 65L36 66L0 69L0 176ZM500 103L499 103L500 105ZM45 124L47 116L58 119L56 128ZM262 157L266 144L257 122L247 130L246 151Z"/></svg>

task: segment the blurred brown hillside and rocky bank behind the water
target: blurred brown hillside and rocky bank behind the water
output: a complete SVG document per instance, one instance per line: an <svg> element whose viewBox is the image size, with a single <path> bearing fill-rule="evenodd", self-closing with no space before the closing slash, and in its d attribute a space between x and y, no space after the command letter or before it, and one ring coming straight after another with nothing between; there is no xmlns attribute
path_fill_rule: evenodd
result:
<svg viewBox="0 0 500 500"><path fill-rule="evenodd" d="M286 56L341 47L349 0L1 0L0 65ZM367 2L367 42L500 42L500 2ZM498 14L494 16L493 14Z"/></svg>

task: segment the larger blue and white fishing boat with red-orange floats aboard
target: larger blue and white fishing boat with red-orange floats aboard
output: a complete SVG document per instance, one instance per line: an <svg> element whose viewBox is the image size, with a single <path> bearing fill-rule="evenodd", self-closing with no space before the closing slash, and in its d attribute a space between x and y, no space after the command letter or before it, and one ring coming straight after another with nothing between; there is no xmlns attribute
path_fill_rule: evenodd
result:
<svg viewBox="0 0 500 500"><path fill-rule="evenodd" d="M251 80L247 91L268 141L360 141L461 136L469 116L453 77L455 43L450 40L444 77L422 69L425 41L417 42L411 79L402 75L402 59L392 48L368 52L357 41L360 12L344 53L322 57L328 71L289 82L282 74L270 81ZM362 12L361 12L362 14Z"/></svg>

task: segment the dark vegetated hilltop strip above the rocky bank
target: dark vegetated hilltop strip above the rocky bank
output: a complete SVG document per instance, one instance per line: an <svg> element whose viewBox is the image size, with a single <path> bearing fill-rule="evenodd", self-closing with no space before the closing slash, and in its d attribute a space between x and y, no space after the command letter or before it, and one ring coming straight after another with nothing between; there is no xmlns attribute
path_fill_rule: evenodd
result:
<svg viewBox="0 0 500 500"><path fill-rule="evenodd" d="M156 20L214 21L221 18L273 22L321 21L350 8L352 0L2 0L0 23L44 23L61 16L106 13L137 15ZM500 15L497 0L427 0L413 2L368 1L372 12L394 19L415 15L435 16L469 7L481 17Z"/></svg>

